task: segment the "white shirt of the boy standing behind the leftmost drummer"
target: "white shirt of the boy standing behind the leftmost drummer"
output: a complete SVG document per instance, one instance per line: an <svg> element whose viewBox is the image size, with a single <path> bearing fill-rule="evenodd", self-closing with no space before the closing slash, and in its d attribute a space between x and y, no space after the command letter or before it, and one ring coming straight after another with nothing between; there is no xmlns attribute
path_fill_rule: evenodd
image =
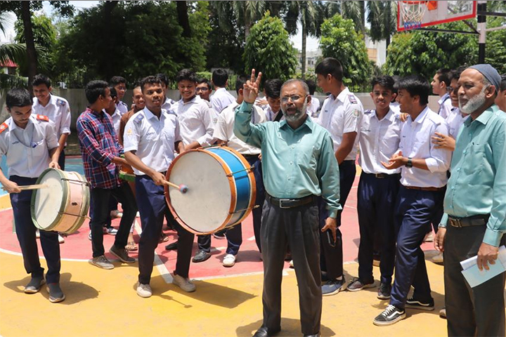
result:
<svg viewBox="0 0 506 337"><path fill-rule="evenodd" d="M70 135L72 114L70 114L70 105L65 98L51 94L48 104L43 107L39 99L34 97L32 114L42 114L49 117L50 121L53 121L56 130L56 139L60 139L60 136L64 133Z"/></svg>

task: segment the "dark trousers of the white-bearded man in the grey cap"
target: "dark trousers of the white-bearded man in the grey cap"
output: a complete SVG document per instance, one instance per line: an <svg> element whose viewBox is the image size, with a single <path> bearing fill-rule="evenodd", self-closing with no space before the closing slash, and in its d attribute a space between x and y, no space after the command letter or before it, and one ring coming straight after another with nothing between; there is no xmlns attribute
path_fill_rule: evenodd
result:
<svg viewBox="0 0 506 337"><path fill-rule="evenodd" d="M448 336L505 336L506 274L471 288L461 273L460 261L476 256L485 230L486 226L447 227L443 254Z"/></svg>

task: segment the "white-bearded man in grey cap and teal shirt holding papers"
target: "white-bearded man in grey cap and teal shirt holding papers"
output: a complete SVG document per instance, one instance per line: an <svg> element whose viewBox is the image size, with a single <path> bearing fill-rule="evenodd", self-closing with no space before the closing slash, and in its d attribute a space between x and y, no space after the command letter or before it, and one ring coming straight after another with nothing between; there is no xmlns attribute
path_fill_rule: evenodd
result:
<svg viewBox="0 0 506 337"><path fill-rule="evenodd" d="M460 74L459 108L468 118L457 136L444 215L434 246L444 253L448 336L505 336L505 273L471 288L460 261L479 270L497 263L506 232L506 116L494 99L500 75L491 65Z"/></svg>

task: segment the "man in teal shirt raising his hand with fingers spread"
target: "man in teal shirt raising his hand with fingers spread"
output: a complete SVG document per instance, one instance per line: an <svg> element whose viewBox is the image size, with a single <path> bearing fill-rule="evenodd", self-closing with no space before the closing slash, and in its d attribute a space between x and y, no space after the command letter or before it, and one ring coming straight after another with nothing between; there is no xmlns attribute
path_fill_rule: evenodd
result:
<svg viewBox="0 0 506 337"><path fill-rule="evenodd" d="M262 210L260 240L264 260L264 324L254 337L274 336L281 329L281 279L287 244L299 286L301 328L304 336L319 336L322 311L318 196L327 204L329 217L322 232L336 239L339 206L339 168L330 133L306 114L309 88L298 79L281 87L285 121L251 124L261 73L244 86L244 102L235 112L234 133L261 148L266 201Z"/></svg>

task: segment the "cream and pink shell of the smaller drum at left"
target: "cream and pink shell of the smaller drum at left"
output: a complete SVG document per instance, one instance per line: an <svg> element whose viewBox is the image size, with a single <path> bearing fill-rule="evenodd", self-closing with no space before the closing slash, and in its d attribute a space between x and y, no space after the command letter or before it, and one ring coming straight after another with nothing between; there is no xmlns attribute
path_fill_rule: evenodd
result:
<svg viewBox="0 0 506 337"><path fill-rule="evenodd" d="M89 211L90 201L88 183L77 172L46 169L37 179L37 184L44 184L45 177L49 172L52 172L51 174L56 172L60 177L63 197L60 201L59 209L41 209L41 207L37 207L37 195L41 193L41 190L34 190L30 204L32 221L39 230L72 234L79 230L87 218L86 215ZM49 215L44 213L44 211L49 213ZM41 219L42 216L51 216L51 214L56 214L51 224L46 227L41 225L38 219Z"/></svg>

